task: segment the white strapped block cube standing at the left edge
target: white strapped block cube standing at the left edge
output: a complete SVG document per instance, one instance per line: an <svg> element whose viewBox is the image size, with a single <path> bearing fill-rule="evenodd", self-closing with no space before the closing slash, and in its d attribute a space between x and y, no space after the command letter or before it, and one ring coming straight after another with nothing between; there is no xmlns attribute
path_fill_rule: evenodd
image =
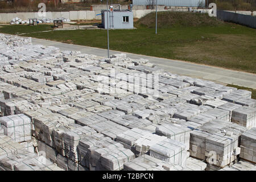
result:
<svg viewBox="0 0 256 182"><path fill-rule="evenodd" d="M0 118L5 135L15 142L31 140L31 119L24 114L8 115Z"/></svg>

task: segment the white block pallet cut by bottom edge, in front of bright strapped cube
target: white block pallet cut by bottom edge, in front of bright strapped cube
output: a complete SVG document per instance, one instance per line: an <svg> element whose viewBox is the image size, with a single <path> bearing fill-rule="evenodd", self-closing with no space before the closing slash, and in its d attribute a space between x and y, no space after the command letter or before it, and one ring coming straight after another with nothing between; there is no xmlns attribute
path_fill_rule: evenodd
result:
<svg viewBox="0 0 256 182"><path fill-rule="evenodd" d="M144 154L123 165L124 171L183 171L183 167L170 164Z"/></svg>

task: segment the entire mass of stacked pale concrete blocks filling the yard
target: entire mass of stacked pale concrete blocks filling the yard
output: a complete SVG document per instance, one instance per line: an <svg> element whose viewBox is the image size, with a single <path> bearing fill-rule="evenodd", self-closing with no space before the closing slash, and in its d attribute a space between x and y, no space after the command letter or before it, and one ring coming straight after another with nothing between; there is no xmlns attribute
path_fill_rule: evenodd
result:
<svg viewBox="0 0 256 182"><path fill-rule="evenodd" d="M0 34L0 170L255 170L251 92L36 41Z"/></svg>

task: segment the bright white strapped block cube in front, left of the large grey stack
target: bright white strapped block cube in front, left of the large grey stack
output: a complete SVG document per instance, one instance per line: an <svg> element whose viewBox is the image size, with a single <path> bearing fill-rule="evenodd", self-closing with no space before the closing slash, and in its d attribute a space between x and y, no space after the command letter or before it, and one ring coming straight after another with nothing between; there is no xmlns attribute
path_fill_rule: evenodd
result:
<svg viewBox="0 0 256 182"><path fill-rule="evenodd" d="M187 150L185 144L172 139L162 140L150 147L150 155L170 164L186 166Z"/></svg>

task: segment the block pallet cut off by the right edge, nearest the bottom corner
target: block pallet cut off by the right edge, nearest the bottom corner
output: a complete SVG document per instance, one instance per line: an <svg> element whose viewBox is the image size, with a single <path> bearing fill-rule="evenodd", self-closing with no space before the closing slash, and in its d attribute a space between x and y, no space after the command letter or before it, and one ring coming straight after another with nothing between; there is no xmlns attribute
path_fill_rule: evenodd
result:
<svg viewBox="0 0 256 182"><path fill-rule="evenodd" d="M240 158L256 163L256 127L242 134L240 147Z"/></svg>

